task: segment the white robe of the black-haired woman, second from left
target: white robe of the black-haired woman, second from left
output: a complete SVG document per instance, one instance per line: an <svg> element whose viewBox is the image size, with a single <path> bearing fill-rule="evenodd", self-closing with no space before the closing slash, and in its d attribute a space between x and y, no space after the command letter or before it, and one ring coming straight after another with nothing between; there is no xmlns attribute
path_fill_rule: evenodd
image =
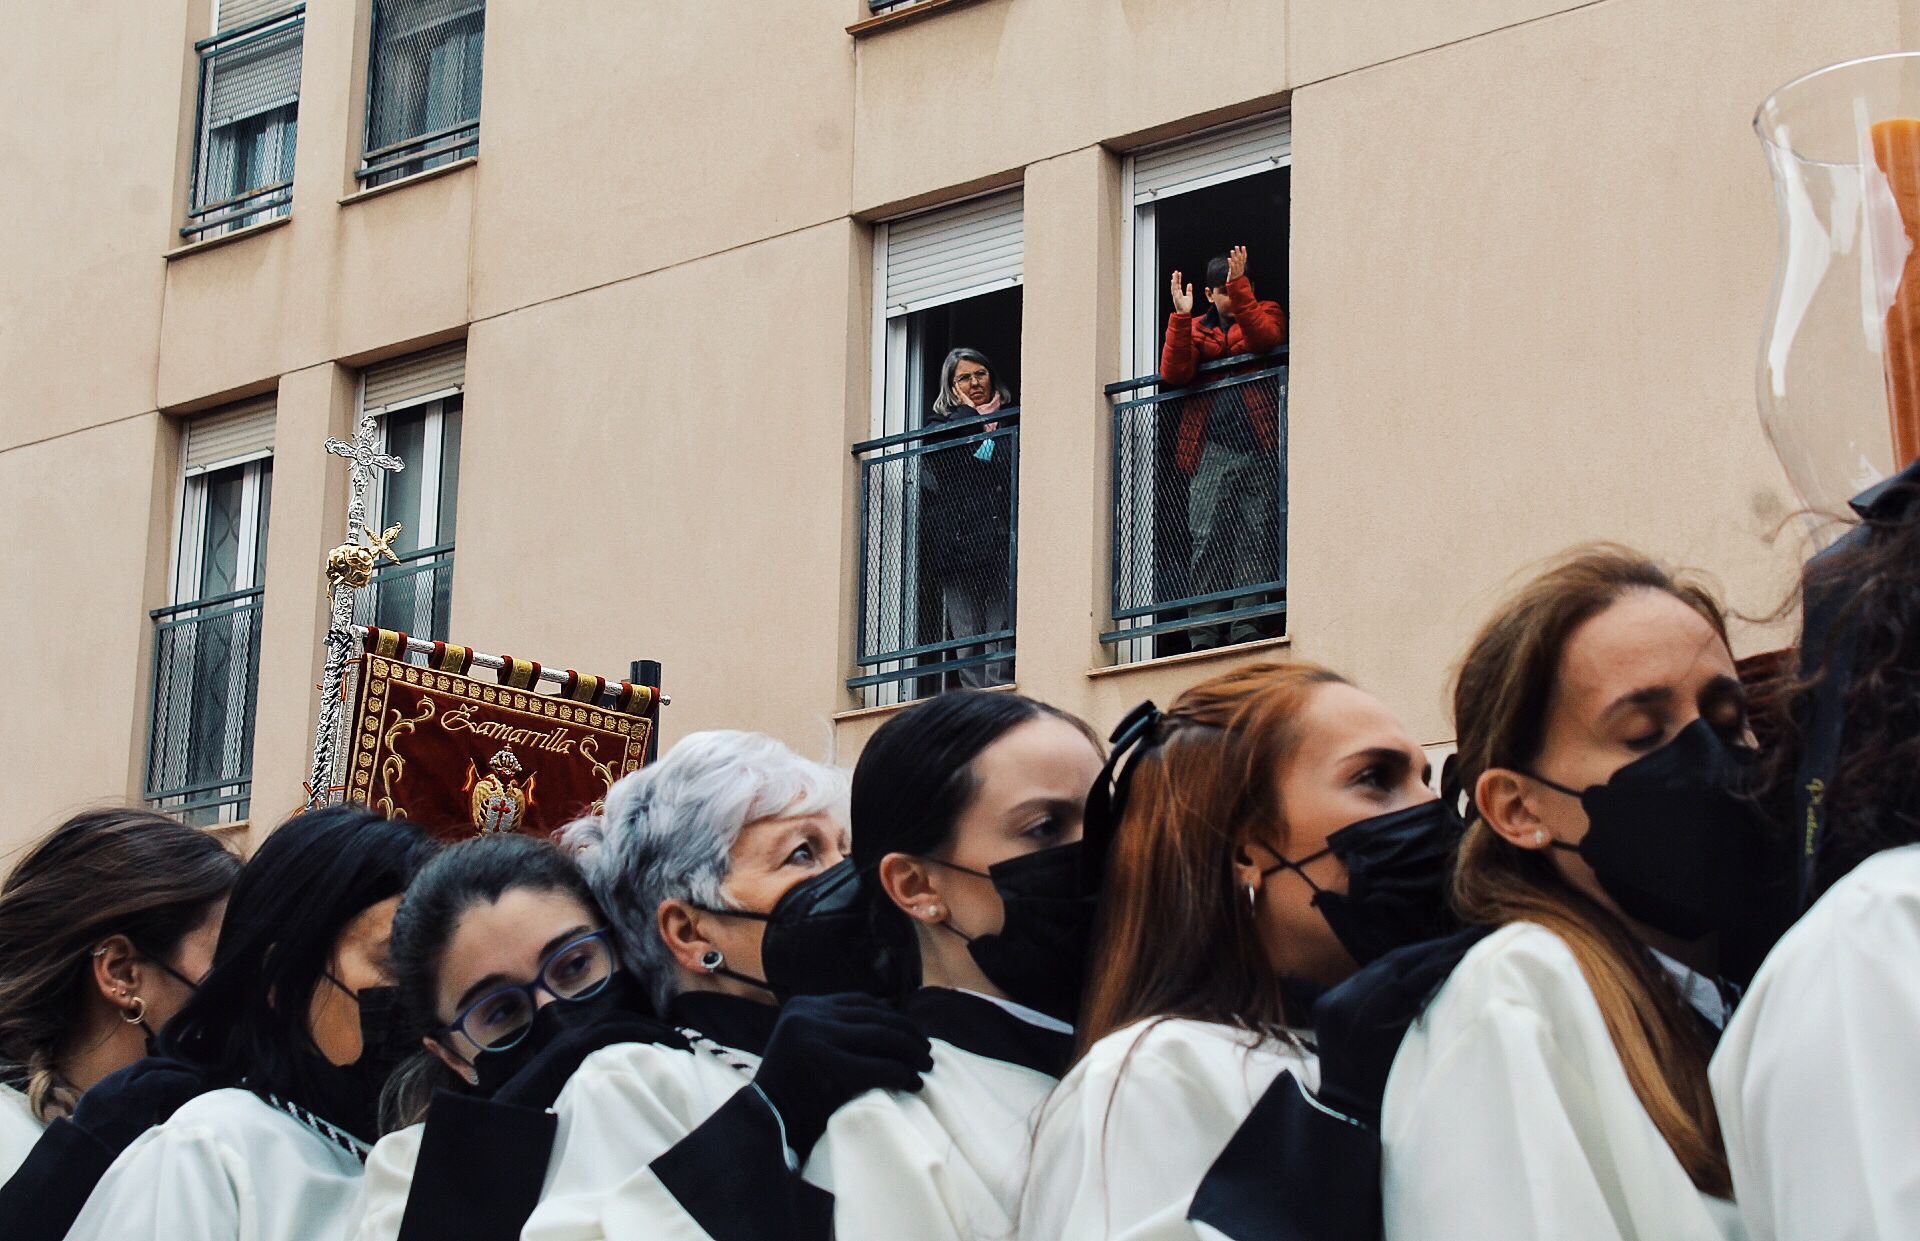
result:
<svg viewBox="0 0 1920 1241"><path fill-rule="evenodd" d="M361 1162L244 1089L186 1103L127 1147L69 1241L336 1241Z"/></svg>

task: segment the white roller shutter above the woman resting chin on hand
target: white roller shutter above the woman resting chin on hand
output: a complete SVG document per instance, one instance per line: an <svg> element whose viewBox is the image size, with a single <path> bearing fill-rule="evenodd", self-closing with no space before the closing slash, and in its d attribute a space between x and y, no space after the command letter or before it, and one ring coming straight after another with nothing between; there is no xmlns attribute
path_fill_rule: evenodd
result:
<svg viewBox="0 0 1920 1241"><path fill-rule="evenodd" d="M887 317L1020 284L1020 190L887 223Z"/></svg>

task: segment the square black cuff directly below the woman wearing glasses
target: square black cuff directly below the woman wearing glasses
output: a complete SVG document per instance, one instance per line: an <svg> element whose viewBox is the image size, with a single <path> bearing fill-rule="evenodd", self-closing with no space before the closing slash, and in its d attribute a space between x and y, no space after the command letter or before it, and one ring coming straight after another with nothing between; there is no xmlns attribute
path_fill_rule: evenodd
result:
<svg viewBox="0 0 1920 1241"><path fill-rule="evenodd" d="M559 1116L436 1091L399 1241L513 1241L540 1203Z"/></svg>

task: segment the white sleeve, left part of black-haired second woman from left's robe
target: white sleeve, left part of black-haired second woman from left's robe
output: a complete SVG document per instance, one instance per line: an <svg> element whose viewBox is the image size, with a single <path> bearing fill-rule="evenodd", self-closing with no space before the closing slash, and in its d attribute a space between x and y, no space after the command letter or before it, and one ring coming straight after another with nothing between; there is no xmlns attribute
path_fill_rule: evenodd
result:
<svg viewBox="0 0 1920 1241"><path fill-rule="evenodd" d="M263 1241L244 1160L205 1126L161 1126L127 1147L67 1241Z"/></svg>

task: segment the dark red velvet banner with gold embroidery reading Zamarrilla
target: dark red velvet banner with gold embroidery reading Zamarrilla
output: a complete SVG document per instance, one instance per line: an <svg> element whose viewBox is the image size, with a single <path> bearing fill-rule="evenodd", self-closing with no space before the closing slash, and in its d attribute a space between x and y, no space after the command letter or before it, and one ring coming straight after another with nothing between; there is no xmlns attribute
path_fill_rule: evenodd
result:
<svg viewBox="0 0 1920 1241"><path fill-rule="evenodd" d="M647 755L653 722L609 707L361 657L348 801L442 840L547 836Z"/></svg>

